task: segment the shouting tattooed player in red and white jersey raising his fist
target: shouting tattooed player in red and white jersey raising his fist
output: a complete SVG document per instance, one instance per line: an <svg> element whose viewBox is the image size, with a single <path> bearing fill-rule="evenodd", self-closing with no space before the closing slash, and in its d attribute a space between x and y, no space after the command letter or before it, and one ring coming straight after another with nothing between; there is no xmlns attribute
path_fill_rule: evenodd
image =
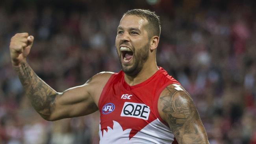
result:
<svg viewBox="0 0 256 144"><path fill-rule="evenodd" d="M10 42L13 67L35 110L46 120L100 111L100 144L206 144L197 109L178 81L156 64L159 17L127 11L117 28L115 46L122 70L101 72L84 85L56 92L26 62L33 36L17 33ZM175 137L175 138L174 138Z"/></svg>

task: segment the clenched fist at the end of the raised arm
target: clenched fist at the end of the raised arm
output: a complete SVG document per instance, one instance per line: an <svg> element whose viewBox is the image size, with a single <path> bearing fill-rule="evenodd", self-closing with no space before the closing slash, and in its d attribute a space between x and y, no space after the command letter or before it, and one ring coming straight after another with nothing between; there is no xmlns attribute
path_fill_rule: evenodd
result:
<svg viewBox="0 0 256 144"><path fill-rule="evenodd" d="M13 66L18 66L26 61L26 57L32 47L34 37L28 36L28 33L17 33L11 38L10 54Z"/></svg>

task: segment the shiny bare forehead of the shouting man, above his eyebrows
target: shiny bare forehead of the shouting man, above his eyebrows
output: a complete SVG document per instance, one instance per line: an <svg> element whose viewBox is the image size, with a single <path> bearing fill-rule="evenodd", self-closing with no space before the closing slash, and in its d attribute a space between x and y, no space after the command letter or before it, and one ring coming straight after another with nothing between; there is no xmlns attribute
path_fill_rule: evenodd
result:
<svg viewBox="0 0 256 144"><path fill-rule="evenodd" d="M135 16L135 15L124 15L119 23L118 27L121 28L143 28L148 24L148 20L143 19L141 17Z"/></svg>

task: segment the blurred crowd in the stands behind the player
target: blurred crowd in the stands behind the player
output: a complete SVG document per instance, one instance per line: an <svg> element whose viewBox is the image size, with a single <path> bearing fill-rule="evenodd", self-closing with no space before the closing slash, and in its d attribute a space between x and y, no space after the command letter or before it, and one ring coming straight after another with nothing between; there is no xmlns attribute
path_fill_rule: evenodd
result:
<svg viewBox="0 0 256 144"><path fill-rule="evenodd" d="M6 0L0 2L0 144L97 144L99 113L47 122L26 98L9 57L15 33L58 92L101 71L119 72L115 36L128 9L161 17L161 66L193 98L211 144L256 144L254 0Z"/></svg>

